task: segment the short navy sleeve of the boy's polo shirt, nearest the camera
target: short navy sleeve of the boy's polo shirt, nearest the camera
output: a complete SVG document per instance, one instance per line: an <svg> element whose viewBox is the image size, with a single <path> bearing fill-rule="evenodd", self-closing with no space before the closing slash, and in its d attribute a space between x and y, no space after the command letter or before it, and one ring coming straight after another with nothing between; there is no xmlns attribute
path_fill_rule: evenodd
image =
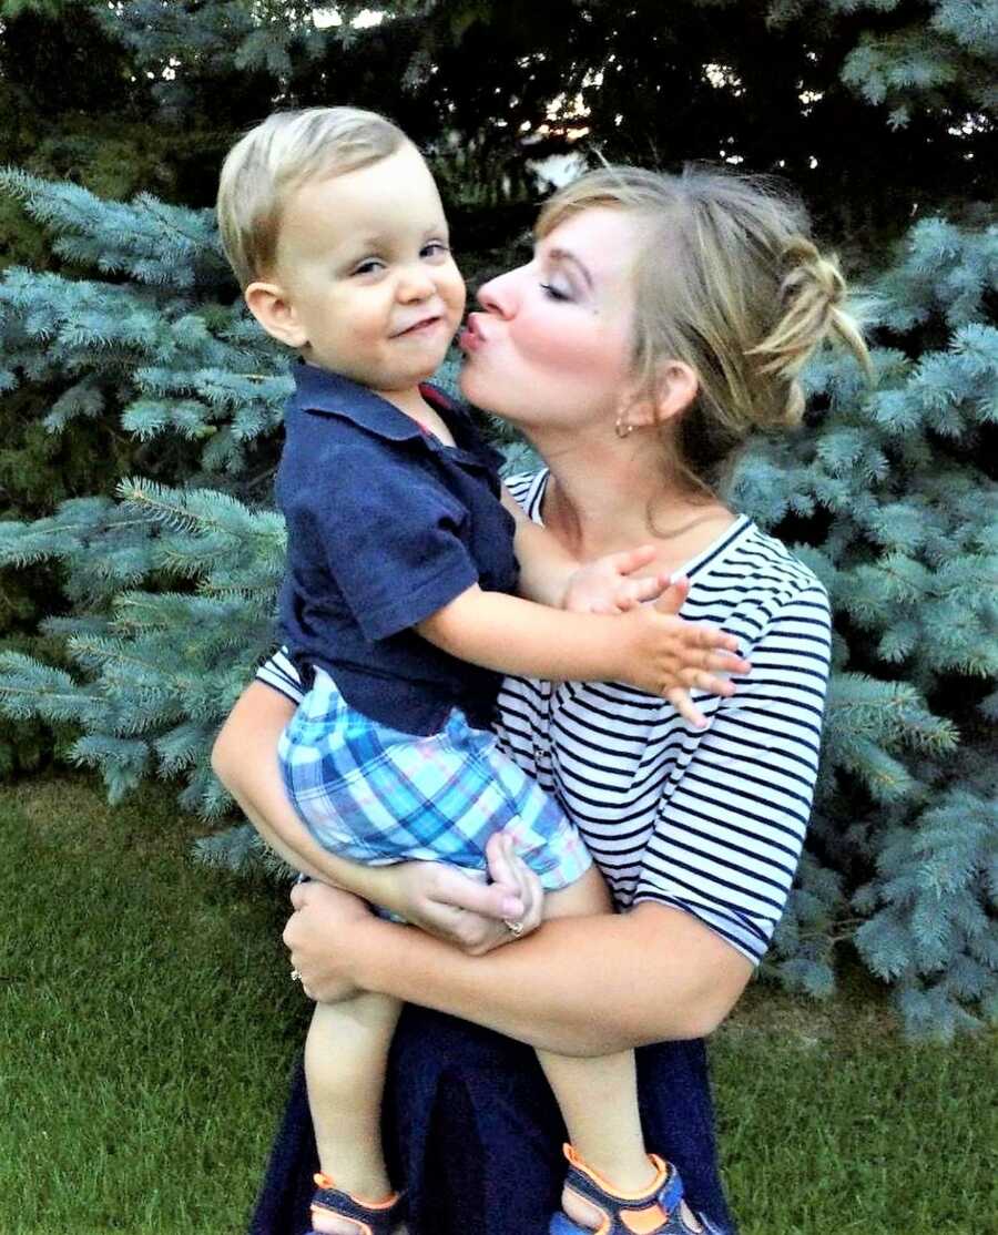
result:
<svg viewBox="0 0 998 1235"><path fill-rule="evenodd" d="M462 540L467 509L434 477L405 459L377 467L343 451L322 474L343 478L324 500L300 498L296 535L324 561L357 625L369 640L415 626L478 582Z"/></svg>

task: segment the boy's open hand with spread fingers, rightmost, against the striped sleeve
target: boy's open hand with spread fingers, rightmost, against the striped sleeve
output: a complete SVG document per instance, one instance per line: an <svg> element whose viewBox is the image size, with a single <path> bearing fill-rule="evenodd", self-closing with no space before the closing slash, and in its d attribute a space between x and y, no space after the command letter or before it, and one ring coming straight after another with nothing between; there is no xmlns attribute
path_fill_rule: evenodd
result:
<svg viewBox="0 0 998 1235"><path fill-rule="evenodd" d="M689 579L678 579L655 605L624 614L620 680L662 695L681 716L703 729L707 718L690 699L690 689L732 695L734 684L716 674L745 674L752 666L737 655L734 635L677 616L688 592Z"/></svg>

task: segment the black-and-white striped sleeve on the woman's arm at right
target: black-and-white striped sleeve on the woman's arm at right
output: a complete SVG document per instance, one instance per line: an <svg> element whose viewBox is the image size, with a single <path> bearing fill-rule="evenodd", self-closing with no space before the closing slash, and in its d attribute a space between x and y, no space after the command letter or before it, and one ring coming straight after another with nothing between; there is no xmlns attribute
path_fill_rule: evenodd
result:
<svg viewBox="0 0 998 1235"><path fill-rule="evenodd" d="M790 890L818 778L831 656L820 584L777 609L748 656L752 672L718 700L666 785L634 902L686 909L757 965Z"/></svg>

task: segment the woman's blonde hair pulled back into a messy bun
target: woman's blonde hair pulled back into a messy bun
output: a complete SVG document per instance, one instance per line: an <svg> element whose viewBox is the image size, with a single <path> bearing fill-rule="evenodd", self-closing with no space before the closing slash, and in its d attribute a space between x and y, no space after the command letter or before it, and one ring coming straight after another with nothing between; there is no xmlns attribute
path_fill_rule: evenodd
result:
<svg viewBox="0 0 998 1235"><path fill-rule="evenodd" d="M837 338L868 372L837 262L818 251L803 205L773 182L703 167L681 175L604 167L545 204L537 235L595 206L640 224L632 364L642 390L655 393L669 359L699 379L669 426L668 462L689 488L713 495L753 429L800 421L798 374L823 340Z"/></svg>

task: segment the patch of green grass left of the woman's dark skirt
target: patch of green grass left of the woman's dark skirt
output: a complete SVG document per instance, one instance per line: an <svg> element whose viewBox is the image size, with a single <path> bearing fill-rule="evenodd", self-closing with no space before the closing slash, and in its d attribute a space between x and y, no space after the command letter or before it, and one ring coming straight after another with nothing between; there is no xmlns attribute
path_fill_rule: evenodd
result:
<svg viewBox="0 0 998 1235"><path fill-rule="evenodd" d="M172 802L0 792L0 1233L245 1229L304 1025L279 900Z"/></svg>

